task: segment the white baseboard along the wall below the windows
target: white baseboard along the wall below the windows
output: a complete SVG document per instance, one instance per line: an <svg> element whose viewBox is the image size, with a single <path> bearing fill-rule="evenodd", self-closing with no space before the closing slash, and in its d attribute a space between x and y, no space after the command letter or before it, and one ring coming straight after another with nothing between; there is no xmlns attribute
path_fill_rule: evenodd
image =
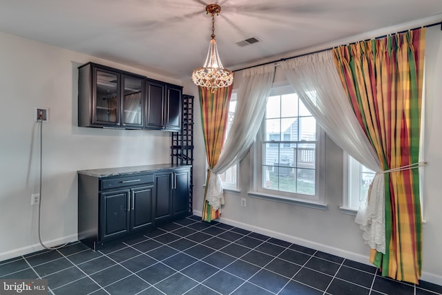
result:
<svg viewBox="0 0 442 295"><path fill-rule="evenodd" d="M196 216L202 216L202 211L195 211L193 210L193 215ZM249 231L253 231L256 232L258 234L262 234L265 236L269 236L271 238L278 238L280 240L285 240L287 242L292 242L294 244L297 245L301 245L304 247L309 247L311 249L315 249L318 251L323 251L329 254L333 254L336 256L340 256L346 259L350 259L350 260L354 260L358 263L363 263L365 265L371 265L373 266L371 263L369 263L369 256L365 256L365 255L361 255L361 254L356 254L354 252L351 251L345 251L343 249L338 249L335 247L331 247L329 245L324 245L324 244L320 244L318 242L312 242L310 240L305 240L302 238L297 238L295 236L289 236L287 234L282 234L279 233L278 231L272 231L270 229L262 229L261 227L256 227L253 225L249 225L247 223L243 223L243 222L238 222L236 220L231 220L229 218L220 218L220 222L225 223L227 225L231 225L233 227L239 227L241 229L247 229ZM437 285L442 285L442 276L438 276L436 274L431 274L429 272L422 272L422 276L421 276L421 280L425 280L426 282L429 283L433 283L433 284L437 284Z"/></svg>

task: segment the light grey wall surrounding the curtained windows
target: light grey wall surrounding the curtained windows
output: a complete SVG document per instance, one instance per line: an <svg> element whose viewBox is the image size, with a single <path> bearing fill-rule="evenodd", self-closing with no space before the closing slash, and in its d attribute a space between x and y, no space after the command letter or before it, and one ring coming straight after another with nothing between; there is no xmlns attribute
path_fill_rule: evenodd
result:
<svg viewBox="0 0 442 295"><path fill-rule="evenodd" d="M422 279L442 285L442 182L439 179L439 167L442 165L442 32L439 26L427 28L425 56L425 160L429 165L424 169L423 182L423 218L427 220L427 224L423 229ZM195 95L195 110L199 110L198 89L191 82L186 82L184 92ZM193 204L195 213L200 213L204 196L205 161L198 114L195 115L195 155ZM322 211L249 198L247 191L252 187L253 169L251 155L247 155L240 164L240 193L226 193L224 196L226 204L222 207L222 221L361 263L369 263L369 248L363 242L354 216L345 215L338 209L342 205L342 159L342 151L327 138L325 200L328 209ZM240 198L247 199L247 207L240 207Z"/></svg>

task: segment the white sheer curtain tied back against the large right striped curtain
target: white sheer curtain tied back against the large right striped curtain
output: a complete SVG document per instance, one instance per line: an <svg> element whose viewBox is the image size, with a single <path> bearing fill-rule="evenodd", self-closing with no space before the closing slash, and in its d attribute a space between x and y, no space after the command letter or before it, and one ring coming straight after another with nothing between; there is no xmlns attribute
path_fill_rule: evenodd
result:
<svg viewBox="0 0 442 295"><path fill-rule="evenodd" d="M332 50L289 59L282 64L287 80L327 135L341 149L373 171L382 171L378 157L350 106L333 61ZM374 178L356 222L365 242L385 253L384 178Z"/></svg>

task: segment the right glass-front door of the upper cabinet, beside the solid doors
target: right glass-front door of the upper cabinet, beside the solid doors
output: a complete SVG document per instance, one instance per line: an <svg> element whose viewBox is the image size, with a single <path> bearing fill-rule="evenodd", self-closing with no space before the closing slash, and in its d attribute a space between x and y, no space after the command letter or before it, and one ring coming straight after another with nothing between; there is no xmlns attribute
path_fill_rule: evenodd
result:
<svg viewBox="0 0 442 295"><path fill-rule="evenodd" d="M143 126L143 97L144 80L123 75L123 106L122 124L142 128Z"/></svg>

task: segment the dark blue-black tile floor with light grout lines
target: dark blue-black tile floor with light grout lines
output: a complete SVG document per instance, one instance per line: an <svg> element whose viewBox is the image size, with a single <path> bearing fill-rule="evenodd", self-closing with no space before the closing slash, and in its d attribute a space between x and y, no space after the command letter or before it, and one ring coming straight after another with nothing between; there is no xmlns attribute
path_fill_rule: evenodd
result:
<svg viewBox="0 0 442 295"><path fill-rule="evenodd" d="M80 242L0 262L1 278L48 279L49 294L442 294L375 267L190 216L99 251Z"/></svg>

